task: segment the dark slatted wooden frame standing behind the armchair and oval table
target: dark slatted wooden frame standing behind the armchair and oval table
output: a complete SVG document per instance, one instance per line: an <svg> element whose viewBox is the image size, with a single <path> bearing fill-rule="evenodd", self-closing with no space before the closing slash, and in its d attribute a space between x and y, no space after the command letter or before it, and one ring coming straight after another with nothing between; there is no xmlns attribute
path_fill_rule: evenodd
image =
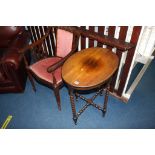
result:
<svg viewBox="0 0 155 155"><path fill-rule="evenodd" d="M95 47L96 41L97 46L102 47L103 45L106 45L106 48L116 49L116 55L119 57L119 60L121 60L123 52L127 51L127 57L125 60L124 67L121 68L121 72L119 75L119 85L118 88L115 88L116 84L116 78L118 75L118 72L115 73L115 77L113 78L113 81L111 82L110 86L110 93L117 97L118 99L127 102L127 99L122 96L122 92L127 80L127 76L129 74L129 69L131 66L132 58L135 53L135 49L137 46L138 38L142 29L142 26L133 26L133 30L131 26L66 26L63 27L67 30L74 30L80 35L80 47L79 49L85 49L86 43L88 47ZM96 32L96 28L98 28L98 32ZM32 42L35 42L37 38L40 38L43 36L44 30L47 29L47 26L28 26L28 30L31 33L32 36ZM117 32L116 32L117 31ZM119 34L117 34L119 31ZM128 33L130 32L131 33ZM117 39L115 38L115 34L117 34ZM131 40L129 42L126 42L126 39L131 34ZM50 35L47 38L47 48L50 55L54 55L52 50L54 49L53 44L50 44L50 40L53 40L53 36ZM88 40L88 42L87 42Z"/></svg>

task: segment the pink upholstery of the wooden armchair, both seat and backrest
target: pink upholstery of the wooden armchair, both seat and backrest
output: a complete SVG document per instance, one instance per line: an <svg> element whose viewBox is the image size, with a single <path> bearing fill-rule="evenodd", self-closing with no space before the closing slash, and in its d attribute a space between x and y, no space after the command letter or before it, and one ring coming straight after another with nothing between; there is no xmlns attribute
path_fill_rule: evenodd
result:
<svg viewBox="0 0 155 155"><path fill-rule="evenodd" d="M56 62L60 61L60 57L66 56L72 49L73 33L58 29L57 30L57 56L42 59L31 66L29 69L40 79L53 84L52 74L47 72L47 68ZM54 75L57 83L62 81L61 78L61 67L54 71Z"/></svg>

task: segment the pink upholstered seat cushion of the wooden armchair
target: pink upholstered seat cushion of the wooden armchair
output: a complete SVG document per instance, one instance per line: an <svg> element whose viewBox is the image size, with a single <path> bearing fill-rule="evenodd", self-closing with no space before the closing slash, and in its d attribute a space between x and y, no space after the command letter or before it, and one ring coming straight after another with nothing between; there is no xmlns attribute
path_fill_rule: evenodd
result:
<svg viewBox="0 0 155 155"><path fill-rule="evenodd" d="M29 69L40 79L47 81L49 83L53 83L53 78L52 78L52 74L47 72L47 68L52 65L55 64L56 62L58 62L59 60L61 60L60 57L52 57L52 58L46 58L46 59L42 59L34 64L32 64ZM54 72L57 84L59 84L62 81L61 78L61 67L59 67L58 69L55 70Z"/></svg>

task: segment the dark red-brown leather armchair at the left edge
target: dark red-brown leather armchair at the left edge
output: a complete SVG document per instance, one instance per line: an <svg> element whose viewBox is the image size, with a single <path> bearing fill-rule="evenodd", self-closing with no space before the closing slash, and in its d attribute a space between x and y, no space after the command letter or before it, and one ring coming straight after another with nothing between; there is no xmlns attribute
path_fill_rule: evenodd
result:
<svg viewBox="0 0 155 155"><path fill-rule="evenodd" d="M26 84L24 58L18 52L29 44L30 34L24 26L0 27L0 93L23 92ZM25 51L30 62L30 55Z"/></svg>

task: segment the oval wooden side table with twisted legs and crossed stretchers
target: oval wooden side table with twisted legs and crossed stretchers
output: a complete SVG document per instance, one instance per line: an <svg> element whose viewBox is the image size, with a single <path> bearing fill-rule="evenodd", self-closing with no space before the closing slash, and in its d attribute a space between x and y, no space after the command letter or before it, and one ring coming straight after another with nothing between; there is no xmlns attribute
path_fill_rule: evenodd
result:
<svg viewBox="0 0 155 155"><path fill-rule="evenodd" d="M103 116L106 113L109 86L112 75L118 68L119 59L115 53L106 48L87 48L76 52L62 66L62 78L68 86L74 123L77 123L79 115L92 105L101 110ZM87 99L80 95L79 91L97 90L96 94ZM93 100L105 91L103 107L95 104ZM86 101L83 108L76 113L74 94L76 99Z"/></svg>

